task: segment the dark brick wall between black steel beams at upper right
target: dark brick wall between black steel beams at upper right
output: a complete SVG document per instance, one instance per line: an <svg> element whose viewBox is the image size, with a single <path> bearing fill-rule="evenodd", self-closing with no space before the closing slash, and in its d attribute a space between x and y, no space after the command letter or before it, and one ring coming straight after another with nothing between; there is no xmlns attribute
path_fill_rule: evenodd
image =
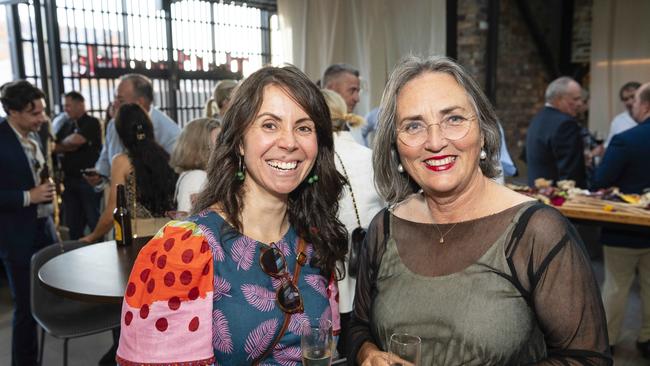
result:
<svg viewBox="0 0 650 366"><path fill-rule="evenodd" d="M552 19L559 2L527 0L535 20L549 44L559 42L557 20ZM487 52L487 0L458 0L458 61L485 86ZM588 60L593 0L575 0L574 62ZM506 133L510 155L525 180L525 164L518 160L526 140L526 129L544 104L550 81L530 32L515 0L499 4L496 111ZM557 49L553 49L555 52ZM554 53L554 57L558 57Z"/></svg>

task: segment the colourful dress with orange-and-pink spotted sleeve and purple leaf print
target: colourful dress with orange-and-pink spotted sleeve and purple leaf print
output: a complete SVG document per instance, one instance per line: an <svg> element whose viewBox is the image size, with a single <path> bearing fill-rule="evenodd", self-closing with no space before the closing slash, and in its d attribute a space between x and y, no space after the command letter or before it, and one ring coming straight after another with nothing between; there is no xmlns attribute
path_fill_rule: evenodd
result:
<svg viewBox="0 0 650 366"><path fill-rule="evenodd" d="M275 293L281 280L259 265L263 245L214 211L165 225L142 248L131 271L118 363L250 365L271 346L284 321ZM293 276L298 245L293 228L274 245ZM309 265L311 244L305 252L297 284L305 311L291 315L263 365L300 365L300 324L308 318L332 319L330 295L336 290Z"/></svg>

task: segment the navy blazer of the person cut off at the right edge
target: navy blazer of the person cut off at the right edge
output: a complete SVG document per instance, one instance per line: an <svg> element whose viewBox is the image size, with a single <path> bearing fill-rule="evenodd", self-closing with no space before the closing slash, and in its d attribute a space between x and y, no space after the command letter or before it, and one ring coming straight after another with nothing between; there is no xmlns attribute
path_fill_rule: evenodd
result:
<svg viewBox="0 0 650 366"><path fill-rule="evenodd" d="M618 187L623 193L641 193L650 188L650 118L618 135L609 143L594 174L593 189ZM629 248L650 247L644 233L603 228L603 244Z"/></svg>

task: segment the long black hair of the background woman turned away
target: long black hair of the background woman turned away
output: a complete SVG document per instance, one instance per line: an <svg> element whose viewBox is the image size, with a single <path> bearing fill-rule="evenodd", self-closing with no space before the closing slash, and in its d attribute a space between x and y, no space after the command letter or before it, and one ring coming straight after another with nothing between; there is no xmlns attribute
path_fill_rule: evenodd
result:
<svg viewBox="0 0 650 366"><path fill-rule="evenodd" d="M138 203L156 217L174 210L178 175L169 165L169 154L154 139L147 112L138 104L123 104L115 115L115 129L133 165Z"/></svg>

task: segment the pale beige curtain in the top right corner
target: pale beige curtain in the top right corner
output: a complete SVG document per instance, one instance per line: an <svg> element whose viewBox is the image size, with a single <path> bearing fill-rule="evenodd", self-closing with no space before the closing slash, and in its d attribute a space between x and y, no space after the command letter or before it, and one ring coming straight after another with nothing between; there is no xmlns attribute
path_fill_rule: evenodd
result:
<svg viewBox="0 0 650 366"><path fill-rule="evenodd" d="M589 128L601 136L623 111L621 86L650 81L649 14L648 0L594 0Z"/></svg>

